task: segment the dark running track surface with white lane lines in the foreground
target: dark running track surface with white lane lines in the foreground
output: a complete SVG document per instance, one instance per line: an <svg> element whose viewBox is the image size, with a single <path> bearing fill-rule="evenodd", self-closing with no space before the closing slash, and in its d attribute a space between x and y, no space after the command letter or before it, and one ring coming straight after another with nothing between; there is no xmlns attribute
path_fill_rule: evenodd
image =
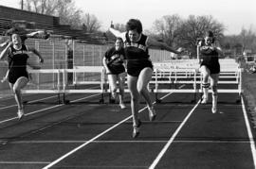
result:
<svg viewBox="0 0 256 169"><path fill-rule="evenodd" d="M219 94L219 111L212 114L210 104L191 102L189 93L160 97L153 123L141 100L137 139L131 137L130 107L99 104L97 93L68 94L68 105L58 105L55 95L26 95L21 121L14 99L2 98L0 168L256 168L255 135L243 99L237 104L236 94Z"/></svg>

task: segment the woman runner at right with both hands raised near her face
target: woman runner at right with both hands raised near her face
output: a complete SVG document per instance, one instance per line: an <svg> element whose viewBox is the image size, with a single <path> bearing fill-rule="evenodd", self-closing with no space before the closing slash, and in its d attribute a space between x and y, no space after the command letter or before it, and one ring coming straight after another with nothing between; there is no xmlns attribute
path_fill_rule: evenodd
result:
<svg viewBox="0 0 256 169"><path fill-rule="evenodd" d="M200 71L203 76L203 98L201 103L208 102L209 87L212 88L212 113L217 111L217 83L220 73L219 55L223 55L220 46L214 41L212 31L206 33L204 41L198 42L197 50L200 59ZM202 61L201 61L202 59ZM208 82L210 77L210 83Z"/></svg>

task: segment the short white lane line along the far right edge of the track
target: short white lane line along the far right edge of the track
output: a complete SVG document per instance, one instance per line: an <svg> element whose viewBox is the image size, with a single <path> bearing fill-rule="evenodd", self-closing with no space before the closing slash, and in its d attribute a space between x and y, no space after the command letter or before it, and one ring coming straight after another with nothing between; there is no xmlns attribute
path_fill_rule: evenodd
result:
<svg viewBox="0 0 256 169"><path fill-rule="evenodd" d="M248 133L248 139L250 141L250 149L251 149L251 154L252 154L252 159L253 159L253 164L254 164L254 168L256 169L256 150L255 150L255 143L254 143L254 139L251 133L251 129L249 126L249 122L248 122L248 117L247 117L247 110L246 110L246 106L245 106L245 102L243 97L241 96L241 101L242 101L242 108L243 108L243 113L244 113L244 117L245 117L245 122L247 125L247 133Z"/></svg>

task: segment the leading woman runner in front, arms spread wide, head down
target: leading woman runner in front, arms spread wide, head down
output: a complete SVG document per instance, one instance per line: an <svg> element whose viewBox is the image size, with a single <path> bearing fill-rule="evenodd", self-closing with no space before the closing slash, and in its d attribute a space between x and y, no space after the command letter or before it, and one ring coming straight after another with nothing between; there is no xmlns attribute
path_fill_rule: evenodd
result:
<svg viewBox="0 0 256 169"><path fill-rule="evenodd" d="M130 19L126 24L126 32L119 32L112 26L109 29L116 37L121 37L124 42L125 57L127 59L128 88L131 94L131 108L133 114L133 137L137 137L141 124L138 117L139 96L142 95L147 103L149 119L155 119L155 109L147 89L153 75L153 64L149 59L148 47L155 46L175 54L181 53L182 49L174 50L173 47L142 33L142 25L137 19Z"/></svg>

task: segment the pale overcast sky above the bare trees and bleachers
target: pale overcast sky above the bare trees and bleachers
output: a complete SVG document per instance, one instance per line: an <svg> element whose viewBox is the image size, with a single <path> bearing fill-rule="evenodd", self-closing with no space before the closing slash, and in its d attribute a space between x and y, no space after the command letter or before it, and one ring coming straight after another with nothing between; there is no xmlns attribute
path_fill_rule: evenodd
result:
<svg viewBox="0 0 256 169"><path fill-rule="evenodd" d="M0 5L20 8L21 0L0 0ZM110 22L125 24L130 18L151 29L156 19L164 15L211 15L226 25L225 34L239 34L242 27L256 30L256 0L73 0L83 12L94 14L102 30ZM0 13L1 17L1 13Z"/></svg>

